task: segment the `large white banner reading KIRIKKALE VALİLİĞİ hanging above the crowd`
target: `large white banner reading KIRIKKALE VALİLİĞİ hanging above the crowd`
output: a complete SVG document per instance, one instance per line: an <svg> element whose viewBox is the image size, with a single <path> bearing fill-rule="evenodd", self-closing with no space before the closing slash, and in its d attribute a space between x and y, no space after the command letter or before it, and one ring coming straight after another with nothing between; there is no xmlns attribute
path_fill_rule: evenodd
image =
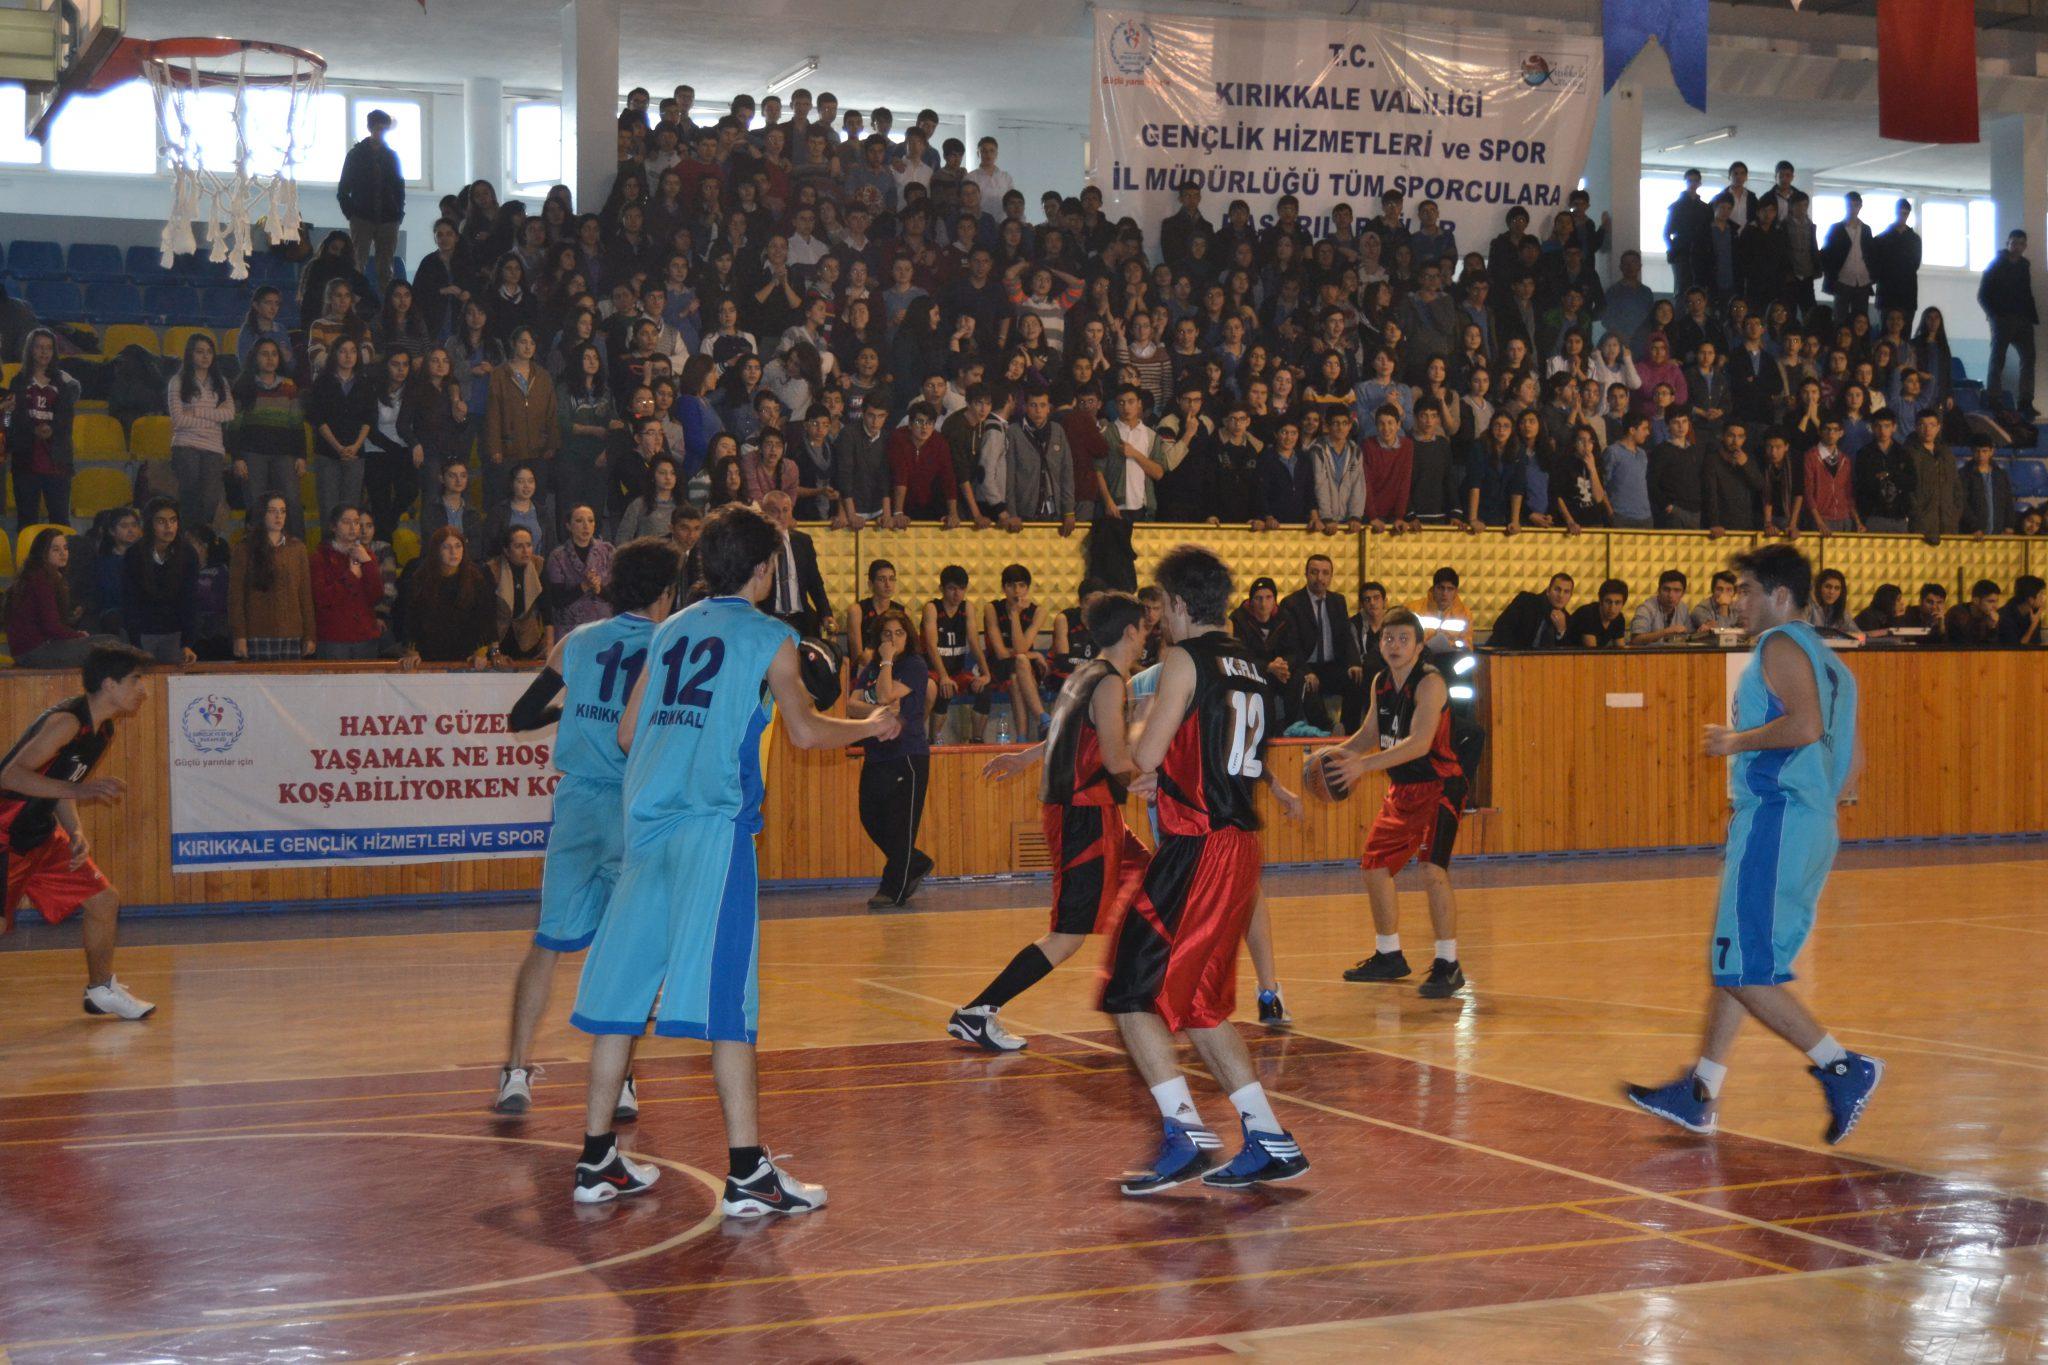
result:
<svg viewBox="0 0 2048 1365"><path fill-rule="evenodd" d="M1579 184L1599 111L1599 39L1460 33L1346 18L1192 18L1096 10L1094 182L1147 233L1188 176L1204 215L1253 221L1282 194L1311 231L1348 203L1434 199L1466 252L1507 209L1546 213Z"/></svg>

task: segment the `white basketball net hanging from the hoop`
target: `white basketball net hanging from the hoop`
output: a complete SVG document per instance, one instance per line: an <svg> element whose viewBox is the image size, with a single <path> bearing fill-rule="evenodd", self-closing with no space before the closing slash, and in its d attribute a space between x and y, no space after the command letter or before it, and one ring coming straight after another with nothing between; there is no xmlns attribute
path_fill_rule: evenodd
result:
<svg viewBox="0 0 2048 1365"><path fill-rule="evenodd" d="M254 223L264 225L270 241L299 237L299 117L307 108L307 100L324 88L326 70L301 57L258 53L260 61L289 61L291 78L270 86L287 92L285 141L279 147L283 162L272 172L252 172L248 143L250 49L231 57L236 61L231 82L217 65L207 72L199 65L201 61L219 63L225 59L150 57L143 61L143 76L156 96L158 153L172 172L170 219L164 223L162 237L164 268L168 270L176 256L199 250L197 229L205 219L207 239L213 244L209 258L229 262L229 278L246 280L250 252L256 246ZM209 84L233 90L236 166L231 172L205 166L199 137L193 131L195 111L186 108Z"/></svg>

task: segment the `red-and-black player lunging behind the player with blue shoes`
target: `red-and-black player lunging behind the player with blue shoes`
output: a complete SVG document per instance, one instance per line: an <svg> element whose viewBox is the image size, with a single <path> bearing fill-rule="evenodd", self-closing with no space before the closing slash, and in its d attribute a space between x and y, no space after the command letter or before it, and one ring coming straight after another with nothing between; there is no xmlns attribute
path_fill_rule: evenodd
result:
<svg viewBox="0 0 2048 1365"><path fill-rule="evenodd" d="M1096 593L1081 606L1092 641L1114 641L1079 663L1053 700L1047 737L1001 753L981 769L997 782L1032 763L1053 851L1053 927L1010 960L946 1031L989 1052L1016 1052L1024 1040L995 1017L1004 1005L1044 980L1090 933L1114 933L1139 890L1151 853L1124 827L1124 788L1137 769L1124 737L1124 684L1145 649L1145 608L1128 593Z"/></svg>

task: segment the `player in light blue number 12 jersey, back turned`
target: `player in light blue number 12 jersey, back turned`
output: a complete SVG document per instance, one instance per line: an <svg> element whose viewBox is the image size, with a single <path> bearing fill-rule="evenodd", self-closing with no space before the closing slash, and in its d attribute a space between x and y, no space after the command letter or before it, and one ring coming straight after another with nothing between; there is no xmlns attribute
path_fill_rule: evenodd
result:
<svg viewBox="0 0 2048 1365"><path fill-rule="evenodd" d="M655 628L618 720L625 862L569 1015L596 1036L573 1187L580 1203L655 1183L655 1166L627 1158L612 1138L633 1040L649 1013L664 1038L711 1042L731 1162L725 1214L807 1214L825 1203L821 1187L768 1160L756 1119L762 733L770 696L782 733L801 749L891 739L899 722L895 710L836 720L811 706L797 632L758 606L780 548L782 532L752 508L719 508L705 520L696 551L711 596Z"/></svg>

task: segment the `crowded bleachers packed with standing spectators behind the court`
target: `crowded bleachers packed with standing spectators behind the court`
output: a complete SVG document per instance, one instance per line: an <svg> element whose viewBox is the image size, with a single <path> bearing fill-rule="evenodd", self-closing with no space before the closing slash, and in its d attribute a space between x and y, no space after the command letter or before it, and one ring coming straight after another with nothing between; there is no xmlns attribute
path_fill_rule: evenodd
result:
<svg viewBox="0 0 2048 1365"><path fill-rule="evenodd" d="M1583 190L1550 221L1456 231L1389 194L1319 237L1292 199L1217 205L1190 182L1147 237L1094 186L1030 205L995 139L934 145L932 111L899 133L807 90L786 117L737 96L715 119L686 92L629 96L602 205L500 203L479 180L412 225L432 237L412 260L375 115L336 203L352 231L274 244L244 284L143 248L6 241L12 661L76 663L100 634L166 663L535 661L608 612L612 546L688 551L727 501L791 532L772 610L856 657L879 612L846 612L815 546L860 536L866 577L918 526L1049 526L1071 536L1067 581L1112 587L1137 585L1149 522L1284 536L1303 563L1434 532L1452 589L1458 534L2042 532L2032 350L2013 387L2003 352L1968 377L1939 309L1915 307L1911 207L1874 229L1858 203L1821 237L1792 166L1761 194L1739 166L1722 188L1694 176L1657 297ZM2025 297L2025 244L2005 246L1980 289L1995 319ZM1296 645L1286 600L1321 604L1305 575L1260 579L1268 602L1251 587L1241 612L1284 673L1368 657L1374 600L1444 585L1339 583L1362 587L1348 645ZM1724 641L1720 585L1669 575L1538 571L1473 628L1520 649ZM1911 577L1837 571L1817 624L2040 643L2040 577ZM948 688L989 690L1010 653L1057 679L1085 649L1049 610L1034 653L993 596L975 585L965 671L926 622Z"/></svg>

